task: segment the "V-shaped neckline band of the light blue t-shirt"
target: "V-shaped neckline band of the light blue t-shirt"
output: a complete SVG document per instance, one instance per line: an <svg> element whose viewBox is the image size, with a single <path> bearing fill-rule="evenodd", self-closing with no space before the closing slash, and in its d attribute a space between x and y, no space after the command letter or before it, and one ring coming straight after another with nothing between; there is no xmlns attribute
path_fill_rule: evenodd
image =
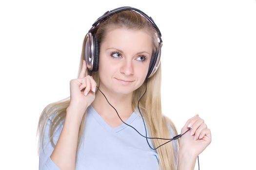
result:
<svg viewBox="0 0 256 170"><path fill-rule="evenodd" d="M92 105L90 105L88 107L88 112L91 112L93 117L98 121L98 123L104 128L106 129L108 132L110 133L117 133L121 130L123 130L124 128L126 128L128 125L122 123L121 125L119 125L118 127L111 127L109 126L109 124L107 124L104 119L101 118L101 116L98 114L98 112L94 109L94 107ZM138 115L133 112L132 115L125 121L125 123L129 124L132 123L132 121L134 119L136 119L138 117Z"/></svg>

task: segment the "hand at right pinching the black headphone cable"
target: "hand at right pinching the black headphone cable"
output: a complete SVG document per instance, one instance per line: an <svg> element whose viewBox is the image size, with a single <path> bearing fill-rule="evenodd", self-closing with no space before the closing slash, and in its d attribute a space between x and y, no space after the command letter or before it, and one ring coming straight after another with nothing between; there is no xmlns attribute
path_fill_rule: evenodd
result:
<svg viewBox="0 0 256 170"><path fill-rule="evenodd" d="M211 143L211 131L198 115L188 119L181 129L181 134L185 133L189 128L191 130L179 139L179 152L197 157Z"/></svg>

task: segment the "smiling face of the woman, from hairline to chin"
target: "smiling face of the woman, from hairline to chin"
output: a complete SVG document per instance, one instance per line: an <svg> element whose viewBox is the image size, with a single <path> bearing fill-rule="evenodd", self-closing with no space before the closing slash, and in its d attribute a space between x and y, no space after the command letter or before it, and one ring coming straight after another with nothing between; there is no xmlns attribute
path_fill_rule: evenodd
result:
<svg viewBox="0 0 256 170"><path fill-rule="evenodd" d="M100 87L118 94L132 93L146 79L152 50L152 37L145 30L109 30L100 44Z"/></svg>

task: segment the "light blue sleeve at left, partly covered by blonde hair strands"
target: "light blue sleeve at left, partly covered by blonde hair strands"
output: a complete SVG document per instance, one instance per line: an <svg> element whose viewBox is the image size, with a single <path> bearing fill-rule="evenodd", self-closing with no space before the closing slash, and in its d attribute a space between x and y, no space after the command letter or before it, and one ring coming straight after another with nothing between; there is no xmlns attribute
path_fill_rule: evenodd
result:
<svg viewBox="0 0 256 170"><path fill-rule="evenodd" d="M50 158L54 147L50 141L49 131L50 131L51 119L48 119L45 126L45 133L43 136L43 141L40 140L39 146L39 170L60 170L59 167ZM56 144L59 139L60 132L57 128L55 136L53 136L53 141ZM42 143L43 142L43 143Z"/></svg>

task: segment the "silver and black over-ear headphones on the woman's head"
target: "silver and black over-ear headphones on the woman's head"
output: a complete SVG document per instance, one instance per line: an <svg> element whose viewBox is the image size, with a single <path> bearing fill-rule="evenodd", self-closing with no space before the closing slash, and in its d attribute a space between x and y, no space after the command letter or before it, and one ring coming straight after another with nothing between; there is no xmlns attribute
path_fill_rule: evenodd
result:
<svg viewBox="0 0 256 170"><path fill-rule="evenodd" d="M97 32L97 26L102 22L107 20L110 16L119 13L121 11L135 11L138 14L140 14L142 17L147 19L152 26L155 28L157 31L157 37L158 37L158 49L155 53L152 54L150 64L149 64L149 69L147 73L147 78L153 76L155 72L157 71L159 64L160 64L160 55L161 55L161 47L162 47L162 39L161 39L161 33L160 30L158 29L158 26L155 24L154 20L152 17L147 16L144 12L133 8L129 6L123 6L116 8L111 11L105 12L101 17L99 17L94 24L92 25L92 28L88 31L88 33L85 35L84 39L84 60L87 63L87 68L90 71L98 71L98 57L99 57L99 44L98 40L96 38L95 33Z"/></svg>

